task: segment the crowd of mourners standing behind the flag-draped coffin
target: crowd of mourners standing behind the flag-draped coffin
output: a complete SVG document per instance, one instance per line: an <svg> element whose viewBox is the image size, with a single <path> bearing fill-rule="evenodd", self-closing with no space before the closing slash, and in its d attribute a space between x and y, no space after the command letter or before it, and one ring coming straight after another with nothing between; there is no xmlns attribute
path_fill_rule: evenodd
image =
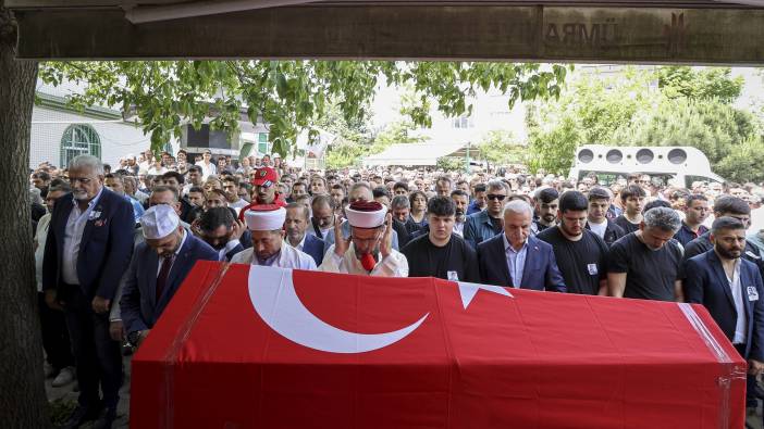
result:
<svg viewBox="0 0 764 429"><path fill-rule="evenodd" d="M81 155L30 173L46 374L111 427L122 355L199 260L703 304L764 396L764 188L634 172L306 171L278 155Z"/></svg>

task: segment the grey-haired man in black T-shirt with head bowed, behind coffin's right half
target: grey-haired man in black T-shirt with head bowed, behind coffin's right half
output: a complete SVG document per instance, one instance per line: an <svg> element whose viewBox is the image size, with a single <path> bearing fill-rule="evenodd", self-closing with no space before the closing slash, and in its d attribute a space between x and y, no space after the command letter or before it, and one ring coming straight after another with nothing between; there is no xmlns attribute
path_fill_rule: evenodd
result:
<svg viewBox="0 0 764 429"><path fill-rule="evenodd" d="M607 257L611 296L682 301L681 249L671 240L681 226L673 209L644 213L638 231L613 243Z"/></svg>

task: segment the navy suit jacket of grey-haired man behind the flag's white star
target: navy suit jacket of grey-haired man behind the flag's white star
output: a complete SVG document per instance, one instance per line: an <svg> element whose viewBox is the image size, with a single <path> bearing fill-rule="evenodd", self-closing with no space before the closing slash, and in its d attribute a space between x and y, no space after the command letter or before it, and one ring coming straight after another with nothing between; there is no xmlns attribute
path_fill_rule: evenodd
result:
<svg viewBox="0 0 764 429"><path fill-rule="evenodd" d="M483 283L513 285L507 267L503 234L478 244L478 265L480 279ZM554 292L566 291L565 280L557 268L552 245L535 237L528 237L528 251L520 288Z"/></svg>

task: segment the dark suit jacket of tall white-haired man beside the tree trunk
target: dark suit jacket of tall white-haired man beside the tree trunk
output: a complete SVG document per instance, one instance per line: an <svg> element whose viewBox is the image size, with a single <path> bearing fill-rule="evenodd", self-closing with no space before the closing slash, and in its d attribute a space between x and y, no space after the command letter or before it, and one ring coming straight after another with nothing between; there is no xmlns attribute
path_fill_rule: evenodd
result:
<svg viewBox="0 0 764 429"><path fill-rule="evenodd" d="M73 207L71 193L56 202L42 262L42 288L57 289L62 301L72 293L62 288L61 266L66 222ZM133 253L133 206L124 197L103 188L90 213L93 215L85 224L77 256L79 288L89 299L98 295L113 301L116 287Z"/></svg>

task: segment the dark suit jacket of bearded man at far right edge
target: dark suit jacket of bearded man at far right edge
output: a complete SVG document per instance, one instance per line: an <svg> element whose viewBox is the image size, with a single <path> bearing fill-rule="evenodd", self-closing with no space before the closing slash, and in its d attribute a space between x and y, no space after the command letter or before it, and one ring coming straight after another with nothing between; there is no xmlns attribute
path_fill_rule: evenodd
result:
<svg viewBox="0 0 764 429"><path fill-rule="evenodd" d="M722 261L712 249L687 261L685 279L685 300L703 304L722 328L729 341L735 338L735 325L738 312L735 307L732 291ZM755 288L757 300L751 301L749 288ZM750 261L740 261L740 293L745 308L745 356L764 361L764 286L759 268Z"/></svg>

